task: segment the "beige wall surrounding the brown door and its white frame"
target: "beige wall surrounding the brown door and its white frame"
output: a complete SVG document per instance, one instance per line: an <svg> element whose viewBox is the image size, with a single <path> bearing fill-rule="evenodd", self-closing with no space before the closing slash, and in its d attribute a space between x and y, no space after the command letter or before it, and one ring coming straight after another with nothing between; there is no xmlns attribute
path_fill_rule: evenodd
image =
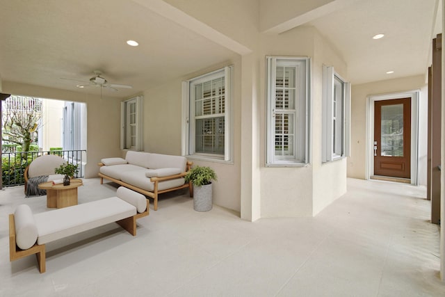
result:
<svg viewBox="0 0 445 297"><path fill-rule="evenodd" d="M423 75L364 83L352 87L351 152L348 158L348 177L359 179L366 177L366 98L370 95L402 93L410 90L420 90L418 183L426 184L428 86Z"/></svg>

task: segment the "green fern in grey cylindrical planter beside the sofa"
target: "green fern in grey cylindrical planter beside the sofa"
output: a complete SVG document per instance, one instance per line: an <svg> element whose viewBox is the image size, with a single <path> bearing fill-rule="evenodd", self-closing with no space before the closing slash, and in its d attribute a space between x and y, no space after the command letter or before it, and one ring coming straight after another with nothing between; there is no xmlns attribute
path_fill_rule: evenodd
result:
<svg viewBox="0 0 445 297"><path fill-rule="evenodd" d="M212 207L212 180L217 180L215 171L210 167L195 166L184 177L193 184L193 208L195 211L209 211Z"/></svg>

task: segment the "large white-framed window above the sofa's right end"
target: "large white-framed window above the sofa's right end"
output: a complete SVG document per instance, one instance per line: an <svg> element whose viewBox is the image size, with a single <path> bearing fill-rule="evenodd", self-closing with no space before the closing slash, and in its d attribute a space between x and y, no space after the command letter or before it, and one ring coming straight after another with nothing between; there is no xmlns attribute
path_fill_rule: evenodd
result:
<svg viewBox="0 0 445 297"><path fill-rule="evenodd" d="M232 69L184 81L184 155L232 161Z"/></svg>

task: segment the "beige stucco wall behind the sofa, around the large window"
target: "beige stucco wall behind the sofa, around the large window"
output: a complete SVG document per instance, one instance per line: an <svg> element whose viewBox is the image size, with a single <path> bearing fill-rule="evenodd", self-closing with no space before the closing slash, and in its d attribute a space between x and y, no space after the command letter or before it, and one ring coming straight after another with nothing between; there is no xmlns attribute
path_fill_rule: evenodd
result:
<svg viewBox="0 0 445 297"><path fill-rule="evenodd" d="M218 181L213 183L213 203L241 211L241 58L213 65L165 85L145 90L144 96L144 150L159 154L181 154L182 81L234 65L234 162L220 163L188 158L193 165L210 166L216 171Z"/></svg>

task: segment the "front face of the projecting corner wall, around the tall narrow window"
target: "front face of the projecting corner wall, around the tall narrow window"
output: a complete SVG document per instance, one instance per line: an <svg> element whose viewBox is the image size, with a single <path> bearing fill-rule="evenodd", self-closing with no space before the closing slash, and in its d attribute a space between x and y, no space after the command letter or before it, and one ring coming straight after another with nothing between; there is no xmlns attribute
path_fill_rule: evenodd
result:
<svg viewBox="0 0 445 297"><path fill-rule="evenodd" d="M266 56L314 56L312 27L297 28L280 35L261 35L260 97L260 166L261 217L312 216L312 164L299 168L266 168ZM280 45L280 47L277 47ZM312 79L314 73L312 73ZM312 92L312 90L311 90ZM312 94L313 95L313 94ZM312 101L313 101L312 97ZM313 112L311 112L311 115ZM311 128L312 129L312 128ZM309 148L312 154L312 148Z"/></svg>

